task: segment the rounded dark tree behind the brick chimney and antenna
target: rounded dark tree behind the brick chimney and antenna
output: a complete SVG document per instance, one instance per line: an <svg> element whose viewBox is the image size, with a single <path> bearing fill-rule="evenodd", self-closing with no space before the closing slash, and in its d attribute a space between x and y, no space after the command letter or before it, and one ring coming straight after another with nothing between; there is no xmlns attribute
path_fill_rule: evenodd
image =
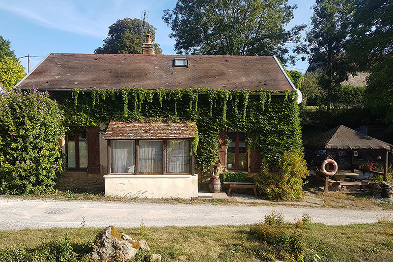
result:
<svg viewBox="0 0 393 262"><path fill-rule="evenodd" d="M109 27L108 37L102 47L94 50L95 54L142 54L142 23L137 18L119 19ZM149 25L144 33L150 33L154 42L156 28ZM156 54L162 54L160 45L154 43Z"/></svg>

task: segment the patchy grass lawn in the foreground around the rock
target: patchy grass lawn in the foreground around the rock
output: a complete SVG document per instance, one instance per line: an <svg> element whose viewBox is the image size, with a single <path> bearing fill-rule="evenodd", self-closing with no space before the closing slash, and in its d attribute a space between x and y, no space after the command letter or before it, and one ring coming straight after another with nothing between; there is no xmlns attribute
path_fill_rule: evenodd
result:
<svg viewBox="0 0 393 262"><path fill-rule="evenodd" d="M296 228L295 224L285 224L284 228L287 232L296 231L297 234L300 232L302 235L301 241L304 245L304 256L302 256L305 262L392 262L393 223L391 221L381 222L384 223L350 226L309 224L301 229ZM267 243L267 240L264 241L251 233L251 227L248 225L171 226L117 228L117 230L120 233L129 234L136 240L145 239L151 248L149 254L161 254L163 261L253 262L273 261L273 259L296 261L296 255L291 257L293 254L288 252L288 247L285 247L285 245L290 246L291 242L287 244L282 244L283 242ZM48 246L49 249L52 248L51 252L61 249L54 242L63 243L66 235L69 237L73 252L77 255L73 260L64 261L89 261L85 254L91 252L92 241L100 230L94 228L53 228L0 231L0 239L6 239L6 241L0 242L0 261L61 261L45 260L41 253L43 250L47 250ZM273 233L274 239L281 239L281 237L281 234ZM45 245L44 242L52 244ZM29 252L35 252L34 256L24 260L23 256L27 257L26 254ZM35 258L37 259L35 260ZM142 259L139 257L133 261L142 261Z"/></svg>

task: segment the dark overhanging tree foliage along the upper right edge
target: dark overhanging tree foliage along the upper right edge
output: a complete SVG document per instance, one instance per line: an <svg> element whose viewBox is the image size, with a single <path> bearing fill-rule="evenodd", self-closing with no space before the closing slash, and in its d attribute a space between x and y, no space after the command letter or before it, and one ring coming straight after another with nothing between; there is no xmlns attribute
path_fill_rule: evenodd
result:
<svg viewBox="0 0 393 262"><path fill-rule="evenodd" d="M367 99L393 123L393 1L354 0L347 52L359 71L369 72Z"/></svg>

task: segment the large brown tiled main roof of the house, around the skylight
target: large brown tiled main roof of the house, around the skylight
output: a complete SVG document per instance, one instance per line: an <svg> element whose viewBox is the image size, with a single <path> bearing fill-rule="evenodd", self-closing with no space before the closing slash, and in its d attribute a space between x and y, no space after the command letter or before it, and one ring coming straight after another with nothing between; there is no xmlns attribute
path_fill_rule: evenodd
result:
<svg viewBox="0 0 393 262"><path fill-rule="evenodd" d="M173 67L187 58L188 67ZM274 57L49 54L19 87L293 90Z"/></svg>

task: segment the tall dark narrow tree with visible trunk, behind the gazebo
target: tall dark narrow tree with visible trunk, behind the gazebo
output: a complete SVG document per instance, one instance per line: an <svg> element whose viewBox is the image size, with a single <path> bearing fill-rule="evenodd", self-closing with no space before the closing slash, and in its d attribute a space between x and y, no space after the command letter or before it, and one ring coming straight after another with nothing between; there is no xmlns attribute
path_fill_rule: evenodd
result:
<svg viewBox="0 0 393 262"><path fill-rule="evenodd" d="M309 62L321 74L319 85L326 91L327 111L330 111L332 91L348 78L350 63L345 54L349 35L352 0L316 0L306 44L295 52L309 55Z"/></svg>

